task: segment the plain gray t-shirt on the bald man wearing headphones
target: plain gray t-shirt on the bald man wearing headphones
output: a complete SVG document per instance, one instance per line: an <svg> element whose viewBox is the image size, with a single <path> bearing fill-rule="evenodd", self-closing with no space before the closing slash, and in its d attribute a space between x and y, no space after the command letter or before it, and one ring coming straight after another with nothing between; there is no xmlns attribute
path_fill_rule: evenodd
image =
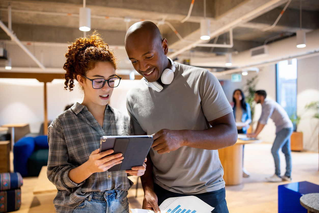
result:
<svg viewBox="0 0 319 213"><path fill-rule="evenodd" d="M205 130L208 121L230 112L219 81L209 71L176 63L174 80L161 92L145 79L129 90L126 101L136 135L151 135L161 129ZM171 192L201 194L225 187L218 150L183 146L158 154L150 149L154 182Z"/></svg>

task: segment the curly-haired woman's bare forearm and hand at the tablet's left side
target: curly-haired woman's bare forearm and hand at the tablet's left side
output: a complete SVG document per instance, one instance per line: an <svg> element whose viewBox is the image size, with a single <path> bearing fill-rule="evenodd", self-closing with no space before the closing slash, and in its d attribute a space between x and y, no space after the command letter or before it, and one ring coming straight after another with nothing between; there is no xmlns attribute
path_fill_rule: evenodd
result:
<svg viewBox="0 0 319 213"><path fill-rule="evenodd" d="M122 153L111 155L113 152L113 149L109 149L100 153L99 148L95 149L89 156L89 160L69 171L69 179L79 184L95 172L107 171L112 166L122 163L124 159Z"/></svg>

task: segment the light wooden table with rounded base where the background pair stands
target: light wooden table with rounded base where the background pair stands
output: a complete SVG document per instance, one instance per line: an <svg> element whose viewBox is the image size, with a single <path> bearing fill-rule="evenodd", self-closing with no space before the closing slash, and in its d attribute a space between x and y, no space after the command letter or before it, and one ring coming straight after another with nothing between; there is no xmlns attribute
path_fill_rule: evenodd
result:
<svg viewBox="0 0 319 213"><path fill-rule="evenodd" d="M239 134L239 138L245 137ZM234 146L218 150L220 162L224 168L224 180L226 185L238 185L242 183L242 151L243 144L260 143L261 140L242 141L237 140Z"/></svg>

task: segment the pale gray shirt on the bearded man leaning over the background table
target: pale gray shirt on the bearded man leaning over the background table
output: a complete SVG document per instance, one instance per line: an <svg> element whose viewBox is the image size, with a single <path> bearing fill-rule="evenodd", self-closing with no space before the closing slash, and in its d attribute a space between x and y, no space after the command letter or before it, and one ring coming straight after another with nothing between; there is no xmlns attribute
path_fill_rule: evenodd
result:
<svg viewBox="0 0 319 213"><path fill-rule="evenodd" d="M293 123L289 119L287 112L279 103L268 98L262 104L262 112L259 123L267 124L268 118L271 118L276 126L276 133L283 128L293 128Z"/></svg>

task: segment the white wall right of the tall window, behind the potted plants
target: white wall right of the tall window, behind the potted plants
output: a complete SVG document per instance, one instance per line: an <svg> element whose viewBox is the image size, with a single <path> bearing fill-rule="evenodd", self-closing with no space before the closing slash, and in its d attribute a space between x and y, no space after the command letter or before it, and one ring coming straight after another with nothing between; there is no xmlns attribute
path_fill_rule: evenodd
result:
<svg viewBox="0 0 319 213"><path fill-rule="evenodd" d="M319 101L319 56L298 60L297 113L301 114L298 131L303 132L305 149L318 151L319 120L314 111L303 113L306 104Z"/></svg>

